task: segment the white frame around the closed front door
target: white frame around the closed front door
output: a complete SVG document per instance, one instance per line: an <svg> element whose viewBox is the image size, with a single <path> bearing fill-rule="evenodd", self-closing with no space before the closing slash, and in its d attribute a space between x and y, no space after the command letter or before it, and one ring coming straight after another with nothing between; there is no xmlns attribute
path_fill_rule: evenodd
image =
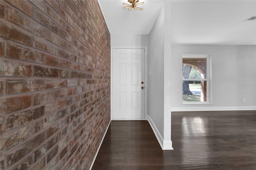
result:
<svg viewBox="0 0 256 170"><path fill-rule="evenodd" d="M111 46L111 62L110 62L110 119L113 120L113 50L114 49L144 49L145 50L145 63L144 63L144 69L145 69L145 72L144 72L144 77L145 77L145 80L144 80L144 88L146 89L145 90L145 104L144 104L144 119L139 119L139 120L148 120L148 49L146 46ZM123 119L120 119L120 120L123 120ZM125 119L125 120L128 120L128 119ZM132 119L134 120L134 119Z"/></svg>

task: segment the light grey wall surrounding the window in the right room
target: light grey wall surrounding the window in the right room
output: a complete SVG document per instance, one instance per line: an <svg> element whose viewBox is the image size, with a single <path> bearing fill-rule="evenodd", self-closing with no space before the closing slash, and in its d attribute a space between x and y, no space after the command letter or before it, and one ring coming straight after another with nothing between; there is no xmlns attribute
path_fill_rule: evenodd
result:
<svg viewBox="0 0 256 170"><path fill-rule="evenodd" d="M182 104L184 54L211 55L212 104ZM171 57L172 111L256 109L255 45L172 45Z"/></svg>

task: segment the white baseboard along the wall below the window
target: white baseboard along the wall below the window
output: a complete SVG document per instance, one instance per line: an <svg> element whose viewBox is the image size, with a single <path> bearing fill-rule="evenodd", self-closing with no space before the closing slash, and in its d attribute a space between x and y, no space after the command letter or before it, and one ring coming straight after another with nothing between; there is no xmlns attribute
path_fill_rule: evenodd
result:
<svg viewBox="0 0 256 170"><path fill-rule="evenodd" d="M254 111L256 106L240 107L172 107L172 112L182 111Z"/></svg>

